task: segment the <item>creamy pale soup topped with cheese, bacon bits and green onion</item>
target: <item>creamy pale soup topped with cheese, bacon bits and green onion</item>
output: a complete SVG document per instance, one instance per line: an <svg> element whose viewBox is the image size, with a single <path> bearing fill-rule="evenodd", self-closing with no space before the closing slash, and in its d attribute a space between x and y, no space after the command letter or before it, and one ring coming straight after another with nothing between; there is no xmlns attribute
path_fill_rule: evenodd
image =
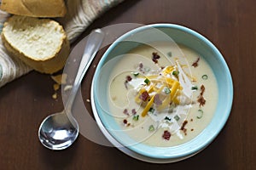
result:
<svg viewBox="0 0 256 170"><path fill-rule="evenodd" d="M110 114L139 143L183 144L207 127L217 105L210 66L182 45L154 42L134 48L110 75Z"/></svg>

